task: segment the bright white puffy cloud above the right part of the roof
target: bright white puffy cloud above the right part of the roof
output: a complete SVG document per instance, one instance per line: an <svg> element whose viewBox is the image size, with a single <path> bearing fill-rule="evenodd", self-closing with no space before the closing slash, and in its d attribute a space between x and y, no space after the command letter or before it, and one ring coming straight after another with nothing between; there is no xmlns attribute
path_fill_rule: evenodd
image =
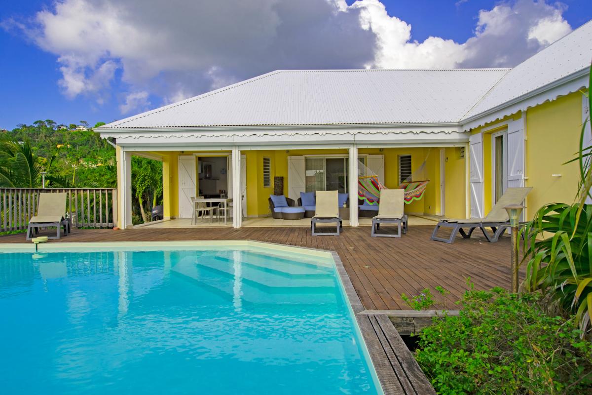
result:
<svg viewBox="0 0 592 395"><path fill-rule="evenodd" d="M361 10L362 27L376 34L377 52L367 65L375 68L513 67L571 31L561 4L518 0L481 10L465 43L441 37L419 43L411 41L411 25L388 15L379 0L349 8Z"/></svg>

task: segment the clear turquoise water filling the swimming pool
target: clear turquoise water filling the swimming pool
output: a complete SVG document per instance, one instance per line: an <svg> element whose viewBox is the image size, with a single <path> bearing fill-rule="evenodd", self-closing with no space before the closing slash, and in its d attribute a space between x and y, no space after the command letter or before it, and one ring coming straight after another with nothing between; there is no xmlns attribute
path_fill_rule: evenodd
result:
<svg viewBox="0 0 592 395"><path fill-rule="evenodd" d="M382 393L324 258L0 253L0 322L5 394Z"/></svg>

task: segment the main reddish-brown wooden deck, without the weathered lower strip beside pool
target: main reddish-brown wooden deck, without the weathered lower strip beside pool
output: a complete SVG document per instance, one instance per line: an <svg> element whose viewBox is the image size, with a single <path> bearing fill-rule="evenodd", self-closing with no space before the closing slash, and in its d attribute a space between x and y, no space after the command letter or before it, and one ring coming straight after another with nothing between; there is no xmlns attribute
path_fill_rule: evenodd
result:
<svg viewBox="0 0 592 395"><path fill-rule="evenodd" d="M455 309L466 290L466 278L477 289L510 287L510 238L488 243L477 235L459 237L452 245L429 239L432 226L410 226L401 239L370 237L369 227L345 227L341 236L310 235L306 227L73 230L50 242L125 242L162 240L258 240L336 251L363 307L367 310L406 310L401 293L413 295L430 288L442 303ZM0 236L0 243L22 243L25 235ZM446 297L434 288L450 291Z"/></svg>

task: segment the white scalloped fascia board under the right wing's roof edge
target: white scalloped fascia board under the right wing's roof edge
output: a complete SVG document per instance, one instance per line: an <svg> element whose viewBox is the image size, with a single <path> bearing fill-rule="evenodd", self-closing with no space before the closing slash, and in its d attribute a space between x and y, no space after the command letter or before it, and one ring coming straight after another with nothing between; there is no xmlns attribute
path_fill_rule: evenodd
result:
<svg viewBox="0 0 592 395"><path fill-rule="evenodd" d="M556 98L577 92L587 88L589 84L590 69L585 68L572 73L562 79L542 86L532 92L491 108L484 113L474 115L461 121L461 130L471 130L475 127L500 120L507 115L516 114L518 111L526 111L530 107L554 101Z"/></svg>

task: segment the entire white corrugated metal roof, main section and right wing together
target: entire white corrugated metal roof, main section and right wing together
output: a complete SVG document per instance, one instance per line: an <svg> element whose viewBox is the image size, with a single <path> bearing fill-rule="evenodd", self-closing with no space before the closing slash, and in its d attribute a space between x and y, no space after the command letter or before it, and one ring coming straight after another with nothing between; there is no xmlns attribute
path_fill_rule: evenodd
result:
<svg viewBox="0 0 592 395"><path fill-rule="evenodd" d="M590 59L592 21L511 70L277 70L98 131L373 124L468 129L577 91L587 85Z"/></svg>

